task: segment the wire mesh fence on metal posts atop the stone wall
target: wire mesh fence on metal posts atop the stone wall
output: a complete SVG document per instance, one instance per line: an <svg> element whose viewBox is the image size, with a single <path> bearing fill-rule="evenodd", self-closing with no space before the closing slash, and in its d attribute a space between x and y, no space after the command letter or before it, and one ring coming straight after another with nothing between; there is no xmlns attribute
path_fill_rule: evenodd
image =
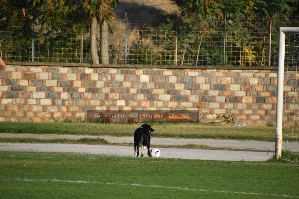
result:
<svg viewBox="0 0 299 199"><path fill-rule="evenodd" d="M13 10L0 20L0 55L9 62L91 63L90 22L37 25ZM278 28L298 27L299 15L213 20L127 12L109 23L109 63L131 65L277 66ZM100 26L96 27L99 59ZM101 63L101 60L100 60Z"/></svg>

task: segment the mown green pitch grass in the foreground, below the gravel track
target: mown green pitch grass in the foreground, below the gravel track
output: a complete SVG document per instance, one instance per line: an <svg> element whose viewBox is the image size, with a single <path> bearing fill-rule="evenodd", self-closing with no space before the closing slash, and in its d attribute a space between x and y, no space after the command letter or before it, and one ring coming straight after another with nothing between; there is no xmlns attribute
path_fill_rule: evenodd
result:
<svg viewBox="0 0 299 199"><path fill-rule="evenodd" d="M10 151L0 160L1 198L299 197L292 162Z"/></svg>

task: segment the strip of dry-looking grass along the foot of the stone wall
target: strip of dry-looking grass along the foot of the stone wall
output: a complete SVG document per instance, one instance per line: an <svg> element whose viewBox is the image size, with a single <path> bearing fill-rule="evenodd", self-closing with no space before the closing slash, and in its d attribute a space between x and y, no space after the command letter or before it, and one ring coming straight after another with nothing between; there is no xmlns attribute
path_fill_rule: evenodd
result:
<svg viewBox="0 0 299 199"><path fill-rule="evenodd" d="M275 141L274 126L235 127L229 124L151 124L155 137ZM140 124L0 122L2 133L133 136Z"/></svg>

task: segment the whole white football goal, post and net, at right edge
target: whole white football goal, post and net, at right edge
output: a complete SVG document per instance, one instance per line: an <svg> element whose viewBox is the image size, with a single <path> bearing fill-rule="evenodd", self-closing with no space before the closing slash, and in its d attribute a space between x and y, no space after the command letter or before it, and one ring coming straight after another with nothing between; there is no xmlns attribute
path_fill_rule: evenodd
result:
<svg viewBox="0 0 299 199"><path fill-rule="evenodd" d="M299 152L299 27L280 27L275 157Z"/></svg>

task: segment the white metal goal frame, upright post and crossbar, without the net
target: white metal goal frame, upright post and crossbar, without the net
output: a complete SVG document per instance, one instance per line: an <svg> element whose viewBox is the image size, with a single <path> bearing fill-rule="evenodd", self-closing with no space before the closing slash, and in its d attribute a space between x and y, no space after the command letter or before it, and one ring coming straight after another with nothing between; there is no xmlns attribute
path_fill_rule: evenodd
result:
<svg viewBox="0 0 299 199"><path fill-rule="evenodd" d="M281 157L283 142L283 97L284 97L284 66L286 34L299 33L299 27L280 27L278 50L278 77L277 77L277 107L276 107L276 144L275 157ZM299 41L298 41L299 42ZM298 43L299 46L299 43ZM298 52L296 52L298 53ZM298 62L299 60L297 60ZM296 140L297 141L297 140Z"/></svg>

